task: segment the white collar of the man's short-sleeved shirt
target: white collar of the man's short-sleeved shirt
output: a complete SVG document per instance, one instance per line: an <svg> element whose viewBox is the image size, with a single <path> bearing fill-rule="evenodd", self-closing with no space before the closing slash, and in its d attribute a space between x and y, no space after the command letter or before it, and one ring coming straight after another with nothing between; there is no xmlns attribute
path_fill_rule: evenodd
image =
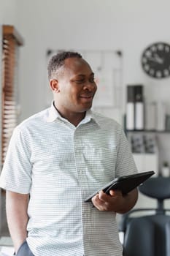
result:
<svg viewBox="0 0 170 256"><path fill-rule="evenodd" d="M47 121L47 123L52 123L57 118L62 118L62 117L61 117L60 113L58 113L58 110L56 110L56 108L54 107L54 103L52 102L51 107L48 110L48 115L47 115L46 121ZM93 120L96 122L96 124L99 124L98 120L96 119L96 116L94 115L92 110L86 111L85 118L82 119L80 124L88 123L90 120Z"/></svg>

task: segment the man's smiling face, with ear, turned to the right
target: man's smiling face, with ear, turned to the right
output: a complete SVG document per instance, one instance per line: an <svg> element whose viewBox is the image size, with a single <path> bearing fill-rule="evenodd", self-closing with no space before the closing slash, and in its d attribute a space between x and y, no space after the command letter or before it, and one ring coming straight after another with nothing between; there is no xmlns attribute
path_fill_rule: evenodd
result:
<svg viewBox="0 0 170 256"><path fill-rule="evenodd" d="M61 113L82 113L90 109L96 93L94 74L84 59L69 58L58 78L55 104Z"/></svg>

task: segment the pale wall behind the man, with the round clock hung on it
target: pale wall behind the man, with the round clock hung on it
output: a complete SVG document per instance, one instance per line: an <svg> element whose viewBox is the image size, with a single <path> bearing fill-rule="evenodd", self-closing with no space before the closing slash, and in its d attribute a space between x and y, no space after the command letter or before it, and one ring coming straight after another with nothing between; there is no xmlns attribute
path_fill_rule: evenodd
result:
<svg viewBox="0 0 170 256"><path fill-rule="evenodd" d="M124 85L144 83L150 99L158 96L168 99L170 79L160 82L144 75L140 56L151 42L170 42L169 1L18 0L16 3L17 28L26 41L20 68L21 118L44 107L47 48L121 49Z"/></svg>

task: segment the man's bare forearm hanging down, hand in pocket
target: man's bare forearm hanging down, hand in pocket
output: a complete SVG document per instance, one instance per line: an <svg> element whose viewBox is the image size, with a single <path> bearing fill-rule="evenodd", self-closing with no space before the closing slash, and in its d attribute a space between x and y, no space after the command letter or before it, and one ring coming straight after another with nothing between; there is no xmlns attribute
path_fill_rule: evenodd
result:
<svg viewBox="0 0 170 256"><path fill-rule="evenodd" d="M28 223L28 195L22 195L15 192L6 193L6 211L9 233L15 246L15 252L26 240Z"/></svg>

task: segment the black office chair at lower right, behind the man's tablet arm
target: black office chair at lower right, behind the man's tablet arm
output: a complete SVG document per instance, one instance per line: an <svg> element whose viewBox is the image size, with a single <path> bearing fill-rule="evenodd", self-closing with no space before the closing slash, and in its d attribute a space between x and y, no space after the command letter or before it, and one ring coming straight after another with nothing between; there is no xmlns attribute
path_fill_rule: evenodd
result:
<svg viewBox="0 0 170 256"><path fill-rule="evenodd" d="M158 207L123 214L119 226L124 233L123 256L170 256L170 209L163 207L163 200L170 198L170 178L149 178L139 191L156 198ZM144 216L139 217L142 212Z"/></svg>

